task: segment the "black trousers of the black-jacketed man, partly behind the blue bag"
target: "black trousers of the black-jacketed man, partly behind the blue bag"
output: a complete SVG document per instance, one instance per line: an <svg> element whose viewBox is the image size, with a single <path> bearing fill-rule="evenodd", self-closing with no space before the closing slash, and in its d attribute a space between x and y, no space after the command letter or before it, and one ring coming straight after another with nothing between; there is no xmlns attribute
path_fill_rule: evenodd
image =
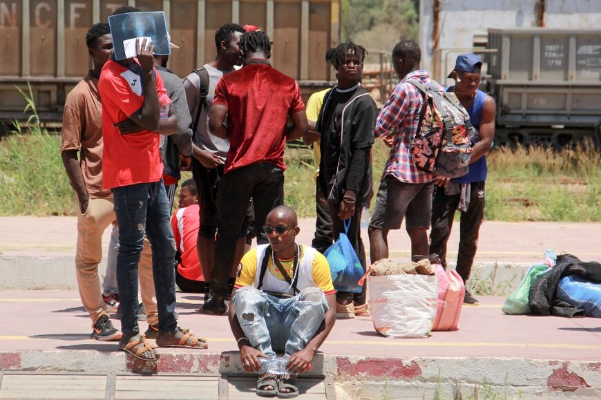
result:
<svg viewBox="0 0 601 400"><path fill-rule="evenodd" d="M340 207L338 204L330 203L330 216L332 216L332 234L334 234L334 240L338 239L338 235L344 233L344 222L340 218L338 218L338 211ZM352 216L351 224L347 232L348 240L351 242L351 245L359 257L359 261L361 262L361 267L363 267L363 272L367 269L367 263L365 263L365 246L363 245L363 240L361 240L361 213L363 212L363 207L361 204L357 203L355 206L355 213ZM365 280L363 283L363 289L361 289L361 293L348 293L348 292L336 292L336 298L338 299L350 299L354 302L354 305L362 305L365 304L365 298L367 295L368 283Z"/></svg>

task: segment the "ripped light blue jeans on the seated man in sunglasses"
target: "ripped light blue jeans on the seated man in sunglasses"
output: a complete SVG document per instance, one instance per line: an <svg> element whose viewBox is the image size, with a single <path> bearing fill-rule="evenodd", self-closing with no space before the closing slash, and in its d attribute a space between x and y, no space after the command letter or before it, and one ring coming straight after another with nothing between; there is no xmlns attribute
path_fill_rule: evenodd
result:
<svg viewBox="0 0 601 400"><path fill-rule="evenodd" d="M318 287L307 287L296 297L279 298L245 286L232 298L233 309L252 347L266 356L303 350L323 323L328 309Z"/></svg>

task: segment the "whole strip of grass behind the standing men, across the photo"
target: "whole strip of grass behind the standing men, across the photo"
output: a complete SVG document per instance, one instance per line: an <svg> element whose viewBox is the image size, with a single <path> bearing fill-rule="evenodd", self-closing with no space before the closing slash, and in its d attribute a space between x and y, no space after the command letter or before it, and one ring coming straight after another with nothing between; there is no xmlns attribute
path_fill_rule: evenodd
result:
<svg viewBox="0 0 601 400"><path fill-rule="evenodd" d="M60 137L40 126L30 95L28 128L0 141L0 215L76 215L75 196L60 156ZM377 191L389 149L372 152ZM287 148L285 204L301 218L315 215L312 150ZM590 146L495 149L488 156L485 217L503 221L601 221L601 154ZM182 179L190 178L184 173ZM372 201L373 204L373 201Z"/></svg>

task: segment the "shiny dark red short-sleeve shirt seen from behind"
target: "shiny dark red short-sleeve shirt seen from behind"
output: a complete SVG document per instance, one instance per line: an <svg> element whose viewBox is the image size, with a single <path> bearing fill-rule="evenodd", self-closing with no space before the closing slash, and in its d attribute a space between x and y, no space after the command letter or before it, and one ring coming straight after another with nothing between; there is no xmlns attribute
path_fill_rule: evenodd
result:
<svg viewBox="0 0 601 400"><path fill-rule="evenodd" d="M216 104L228 109L225 173L256 162L286 168L287 118L305 109L294 79L267 63L247 64L219 80L213 106Z"/></svg>

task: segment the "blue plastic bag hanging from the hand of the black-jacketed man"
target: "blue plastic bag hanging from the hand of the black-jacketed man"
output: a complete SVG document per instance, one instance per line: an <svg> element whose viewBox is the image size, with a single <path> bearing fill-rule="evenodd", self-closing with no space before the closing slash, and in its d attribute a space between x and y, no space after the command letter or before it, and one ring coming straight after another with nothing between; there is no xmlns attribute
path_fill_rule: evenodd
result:
<svg viewBox="0 0 601 400"><path fill-rule="evenodd" d="M330 263L334 289L341 292L361 293L363 287L359 285L359 280L363 277L363 266L346 235L351 220L343 222L345 233L341 233L338 240L327 248L324 256Z"/></svg>

